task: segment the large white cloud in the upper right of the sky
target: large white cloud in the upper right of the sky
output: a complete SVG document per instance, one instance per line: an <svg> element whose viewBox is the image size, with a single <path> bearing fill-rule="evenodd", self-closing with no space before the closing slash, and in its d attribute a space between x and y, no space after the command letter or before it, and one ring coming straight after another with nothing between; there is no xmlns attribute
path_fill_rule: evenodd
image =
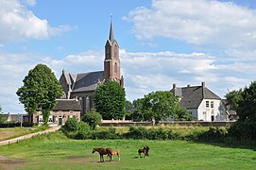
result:
<svg viewBox="0 0 256 170"><path fill-rule="evenodd" d="M213 0L153 0L124 19L138 39L164 37L225 49L253 49L256 10Z"/></svg>

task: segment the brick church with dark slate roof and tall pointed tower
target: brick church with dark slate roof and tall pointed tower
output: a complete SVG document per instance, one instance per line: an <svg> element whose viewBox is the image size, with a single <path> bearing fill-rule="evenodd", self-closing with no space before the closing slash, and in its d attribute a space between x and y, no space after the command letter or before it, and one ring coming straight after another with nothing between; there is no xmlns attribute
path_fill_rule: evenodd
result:
<svg viewBox="0 0 256 170"><path fill-rule="evenodd" d="M105 80L114 80L124 87L124 77L121 76L119 45L114 39L111 21L110 36L105 44L104 70L71 74L65 70L60 76L64 99L77 99L81 106L81 116L94 109L94 91Z"/></svg>

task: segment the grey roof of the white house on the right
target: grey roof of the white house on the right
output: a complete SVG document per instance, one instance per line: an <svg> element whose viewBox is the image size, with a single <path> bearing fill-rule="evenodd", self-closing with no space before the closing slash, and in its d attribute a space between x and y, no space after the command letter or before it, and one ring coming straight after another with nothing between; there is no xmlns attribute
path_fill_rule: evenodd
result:
<svg viewBox="0 0 256 170"><path fill-rule="evenodd" d="M218 95L210 91L205 86L173 88L171 92L176 96L178 95L181 97L181 107L186 109L197 109L203 99L221 100Z"/></svg>

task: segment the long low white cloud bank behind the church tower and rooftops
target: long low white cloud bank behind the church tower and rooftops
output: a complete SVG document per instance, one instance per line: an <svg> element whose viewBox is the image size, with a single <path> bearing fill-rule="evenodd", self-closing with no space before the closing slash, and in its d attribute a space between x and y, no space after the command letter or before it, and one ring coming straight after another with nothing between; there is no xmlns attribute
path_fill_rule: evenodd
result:
<svg viewBox="0 0 256 170"><path fill-rule="evenodd" d="M174 83L182 87L200 85L201 81L223 97L228 90L243 88L256 74L253 70L247 74L255 68L253 62L228 60L223 64L204 53L128 53L121 49L120 56L127 98L131 101L153 91L168 91ZM0 54L0 79L4 82L0 83L0 105L4 111L21 111L16 91L23 85L27 72L38 63L48 65L59 79L62 69L69 73L103 70L103 61L103 51L87 51L63 59L38 54Z"/></svg>

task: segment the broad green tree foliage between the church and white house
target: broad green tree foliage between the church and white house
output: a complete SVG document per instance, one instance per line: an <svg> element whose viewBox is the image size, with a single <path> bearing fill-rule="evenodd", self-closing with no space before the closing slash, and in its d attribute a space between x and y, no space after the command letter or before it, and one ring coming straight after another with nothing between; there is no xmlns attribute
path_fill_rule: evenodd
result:
<svg viewBox="0 0 256 170"><path fill-rule="evenodd" d="M174 117L175 120L192 120L187 110L180 107L179 98L168 91L148 93L144 98L133 101L135 110L133 120L151 121L166 120Z"/></svg>

